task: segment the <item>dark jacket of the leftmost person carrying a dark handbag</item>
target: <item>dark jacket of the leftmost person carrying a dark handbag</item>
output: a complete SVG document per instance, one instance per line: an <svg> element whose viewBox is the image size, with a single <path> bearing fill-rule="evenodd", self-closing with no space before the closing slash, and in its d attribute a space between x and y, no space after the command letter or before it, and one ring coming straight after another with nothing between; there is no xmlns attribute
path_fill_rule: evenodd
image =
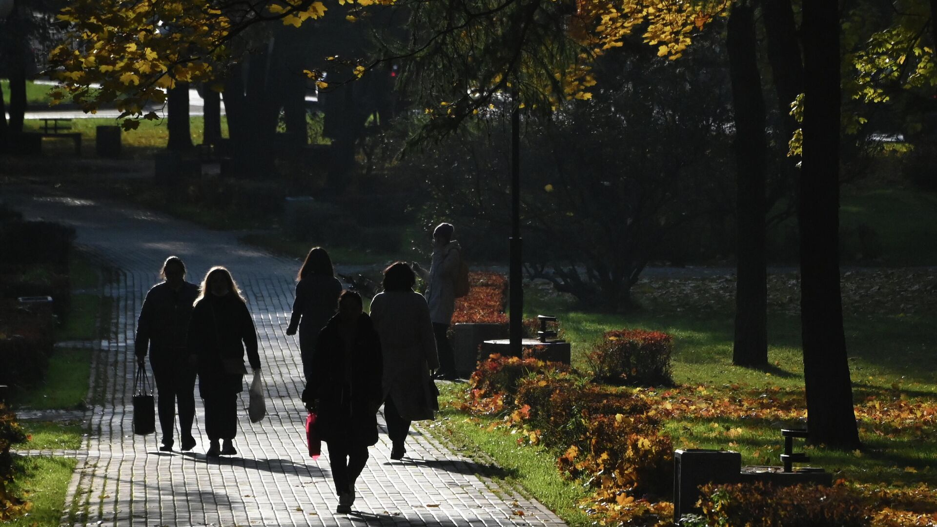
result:
<svg viewBox="0 0 937 527"><path fill-rule="evenodd" d="M198 296L199 286L194 283L183 282L179 291L172 291L167 282L153 286L137 318L137 356L144 357L149 350L154 362L185 360L188 322Z"/></svg>

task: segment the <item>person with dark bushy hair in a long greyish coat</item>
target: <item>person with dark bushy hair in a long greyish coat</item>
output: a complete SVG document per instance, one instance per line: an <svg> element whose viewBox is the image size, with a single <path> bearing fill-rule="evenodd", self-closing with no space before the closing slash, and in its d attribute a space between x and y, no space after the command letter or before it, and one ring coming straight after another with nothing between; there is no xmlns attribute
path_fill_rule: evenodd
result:
<svg viewBox="0 0 937 527"><path fill-rule="evenodd" d="M402 459L410 421L432 419L436 393L430 370L439 368L429 307L413 292L416 275L397 262L384 270L383 293L371 301L371 320L384 355L383 392L391 459ZM435 388L435 386L434 386Z"/></svg>

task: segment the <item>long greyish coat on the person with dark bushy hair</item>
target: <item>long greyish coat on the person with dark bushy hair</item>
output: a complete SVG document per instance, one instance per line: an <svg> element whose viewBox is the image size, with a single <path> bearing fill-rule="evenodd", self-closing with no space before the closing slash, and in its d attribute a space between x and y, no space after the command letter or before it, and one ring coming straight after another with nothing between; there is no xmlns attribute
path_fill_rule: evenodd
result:
<svg viewBox="0 0 937 527"><path fill-rule="evenodd" d="M439 356L423 295L412 291L376 295L371 301L371 322L378 330L384 357L384 398L394 399L404 419L432 419L429 371L439 369Z"/></svg>

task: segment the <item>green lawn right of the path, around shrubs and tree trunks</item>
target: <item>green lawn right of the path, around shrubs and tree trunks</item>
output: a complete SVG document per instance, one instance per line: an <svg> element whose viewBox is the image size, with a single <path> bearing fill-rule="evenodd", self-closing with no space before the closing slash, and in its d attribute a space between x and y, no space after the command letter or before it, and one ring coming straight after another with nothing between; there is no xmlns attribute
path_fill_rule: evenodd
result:
<svg viewBox="0 0 937 527"><path fill-rule="evenodd" d="M758 398L764 392L766 397L793 401L795 408L806 408L800 322L784 309L773 309L768 317L771 366L745 369L731 364L733 319L724 306L679 312L666 306L646 306L628 313L596 313L579 308L569 297L552 294L542 287L528 287L525 308L527 317L559 316L564 337L573 342L573 366L581 370L587 369L590 342L604 331L640 327L673 335L676 386L651 388L647 392L651 395L666 397L674 390L684 395L702 391L714 399L736 400ZM926 343L932 341L935 322L930 313L846 316L845 333L857 407L868 411L876 401L932 407L937 400L937 357ZM518 446L519 436L512 433L513 429L491 429L492 424L502 421L503 415L473 416L456 410L465 401L468 388L469 384L440 388L443 411L438 427L454 438L451 439L454 444L474 444L562 519L573 525L586 519L591 523L594 518L586 517L575 506L578 499L590 494L583 488L584 482L558 477L556 459L562 453L545 451L539 445ZM663 422L662 432L671 437L675 448L731 449L741 453L746 465L780 465L781 427L803 426L804 422L799 418L777 420L751 415L744 411L744 399L738 404L737 417L672 418ZM805 414L794 415L802 418ZM937 486L937 444L927 435L927 429L896 427L894 423L876 422L859 415L861 451L826 450L802 442L798 442L796 451L811 456L812 466L824 467L834 477L857 484ZM913 415L908 418L914 419ZM556 477L546 477L550 471Z"/></svg>

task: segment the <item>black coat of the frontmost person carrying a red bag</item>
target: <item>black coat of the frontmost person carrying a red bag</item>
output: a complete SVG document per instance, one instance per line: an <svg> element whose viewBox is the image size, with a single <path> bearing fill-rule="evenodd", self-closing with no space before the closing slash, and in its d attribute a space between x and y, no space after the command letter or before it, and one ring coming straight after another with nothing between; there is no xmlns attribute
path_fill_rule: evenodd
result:
<svg viewBox="0 0 937 527"><path fill-rule="evenodd" d="M335 315L319 334L306 400L319 399L316 429L323 441L370 446L378 443L377 414L383 395L380 340L371 318L362 313L348 356L341 324Z"/></svg>

